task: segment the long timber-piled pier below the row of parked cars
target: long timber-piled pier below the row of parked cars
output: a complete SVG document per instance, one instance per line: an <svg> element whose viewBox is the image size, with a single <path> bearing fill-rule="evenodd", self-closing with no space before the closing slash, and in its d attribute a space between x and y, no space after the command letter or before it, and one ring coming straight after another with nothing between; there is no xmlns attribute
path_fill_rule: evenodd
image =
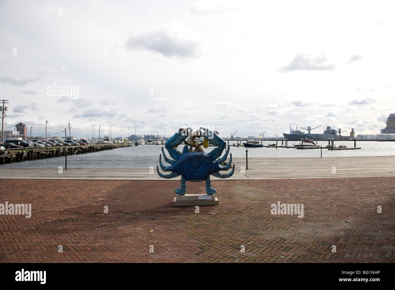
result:
<svg viewBox="0 0 395 290"><path fill-rule="evenodd" d="M65 155L75 155L115 148L129 147L128 144L105 144L105 145L84 145L84 146L64 146L48 148L20 148L6 149L0 152L0 164L22 162L27 160L60 157Z"/></svg>

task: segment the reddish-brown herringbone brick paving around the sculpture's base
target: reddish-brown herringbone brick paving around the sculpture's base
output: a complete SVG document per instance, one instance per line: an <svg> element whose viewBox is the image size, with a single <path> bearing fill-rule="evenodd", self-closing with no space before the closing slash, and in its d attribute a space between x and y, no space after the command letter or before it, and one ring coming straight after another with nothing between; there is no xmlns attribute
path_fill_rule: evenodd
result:
<svg viewBox="0 0 395 290"><path fill-rule="evenodd" d="M177 181L1 185L0 203L31 203L32 217L0 215L0 262L395 262L393 177L213 181L220 205L199 213L172 206ZM278 201L304 217L271 215Z"/></svg>

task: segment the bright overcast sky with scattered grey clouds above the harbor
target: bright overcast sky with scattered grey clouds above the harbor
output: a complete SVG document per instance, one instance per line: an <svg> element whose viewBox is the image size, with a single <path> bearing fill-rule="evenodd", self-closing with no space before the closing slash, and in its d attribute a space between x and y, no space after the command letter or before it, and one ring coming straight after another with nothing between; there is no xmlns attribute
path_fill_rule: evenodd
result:
<svg viewBox="0 0 395 290"><path fill-rule="evenodd" d="M393 3L0 0L7 129L379 133L395 113Z"/></svg>

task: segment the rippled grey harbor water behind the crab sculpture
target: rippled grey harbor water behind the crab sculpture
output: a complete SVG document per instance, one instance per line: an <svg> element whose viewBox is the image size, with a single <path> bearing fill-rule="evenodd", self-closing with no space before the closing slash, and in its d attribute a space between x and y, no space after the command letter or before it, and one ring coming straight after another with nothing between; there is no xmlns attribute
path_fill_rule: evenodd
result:
<svg viewBox="0 0 395 290"><path fill-rule="evenodd" d="M273 144L273 141L266 141ZM232 144L233 141L229 142ZM288 145L293 143L299 144L298 141L289 141ZM285 144L285 142L284 142ZM395 156L395 142L373 142L373 141L357 141L357 150L327 150L325 146L327 141L318 141L322 148L322 157L340 157L340 156ZM278 141L281 145L281 141ZM354 141L335 141L335 145L346 145L348 148L354 147ZM70 155L67 157L68 168L149 168L159 165L159 155L162 153L163 145L139 145L126 148L118 148L113 150L105 150L101 152ZM204 148L205 152L210 152L215 147ZM182 150L182 146L177 148ZM167 157L170 157L164 148ZM225 151L224 151L225 152ZM245 147L230 146L232 157L245 158ZM248 148L248 157L287 157L290 158L290 164L297 162L299 157L320 157L320 149L304 149L295 148ZM229 157L229 156L228 156ZM58 166L64 167L64 157L55 157L48 159L37 159L34 161L24 161L16 163L6 163L0 165L0 168L54 168ZM163 157L162 162L165 163Z"/></svg>

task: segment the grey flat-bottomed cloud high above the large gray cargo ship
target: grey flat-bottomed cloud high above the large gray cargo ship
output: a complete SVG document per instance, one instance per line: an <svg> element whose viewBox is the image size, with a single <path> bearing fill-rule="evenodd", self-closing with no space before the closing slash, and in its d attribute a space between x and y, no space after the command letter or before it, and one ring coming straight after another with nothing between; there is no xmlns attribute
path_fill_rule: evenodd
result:
<svg viewBox="0 0 395 290"><path fill-rule="evenodd" d="M309 55L300 53L297 54L292 62L280 71L282 73L289 73L290 71L331 71L335 69L334 64L324 64L327 61L325 54Z"/></svg>

